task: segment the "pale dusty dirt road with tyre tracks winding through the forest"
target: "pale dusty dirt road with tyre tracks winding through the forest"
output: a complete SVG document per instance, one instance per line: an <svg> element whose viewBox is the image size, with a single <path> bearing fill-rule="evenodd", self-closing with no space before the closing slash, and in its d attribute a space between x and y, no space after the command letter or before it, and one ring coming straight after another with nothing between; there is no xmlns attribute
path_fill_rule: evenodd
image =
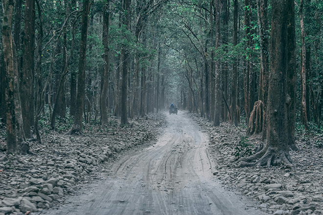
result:
<svg viewBox="0 0 323 215"><path fill-rule="evenodd" d="M167 114L157 144L115 162L112 173L50 215L260 215L217 183L208 136L183 112ZM248 209L248 210L247 210Z"/></svg>

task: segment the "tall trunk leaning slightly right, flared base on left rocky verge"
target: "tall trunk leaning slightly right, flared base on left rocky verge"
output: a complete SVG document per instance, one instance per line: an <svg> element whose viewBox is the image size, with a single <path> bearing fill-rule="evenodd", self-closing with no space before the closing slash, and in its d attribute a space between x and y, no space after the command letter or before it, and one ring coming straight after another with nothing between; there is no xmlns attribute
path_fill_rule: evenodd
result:
<svg viewBox="0 0 323 215"><path fill-rule="evenodd" d="M86 49L87 49L90 6L91 6L90 0L83 0L76 112L75 112L75 119L74 119L73 126L67 134L74 134L76 132L82 133L82 119L83 119L84 97L85 97Z"/></svg>

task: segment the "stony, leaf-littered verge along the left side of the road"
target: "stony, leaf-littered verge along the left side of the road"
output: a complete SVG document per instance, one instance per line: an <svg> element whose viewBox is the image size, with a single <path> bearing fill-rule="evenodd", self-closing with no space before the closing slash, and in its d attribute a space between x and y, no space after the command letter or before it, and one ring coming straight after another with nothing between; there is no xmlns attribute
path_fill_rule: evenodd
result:
<svg viewBox="0 0 323 215"><path fill-rule="evenodd" d="M85 126L84 136L43 131L42 143L30 143L32 155L6 156L0 140L0 215L58 208L102 172L109 174L124 151L155 143L165 122L164 115L151 114L123 128L111 117L105 128Z"/></svg>

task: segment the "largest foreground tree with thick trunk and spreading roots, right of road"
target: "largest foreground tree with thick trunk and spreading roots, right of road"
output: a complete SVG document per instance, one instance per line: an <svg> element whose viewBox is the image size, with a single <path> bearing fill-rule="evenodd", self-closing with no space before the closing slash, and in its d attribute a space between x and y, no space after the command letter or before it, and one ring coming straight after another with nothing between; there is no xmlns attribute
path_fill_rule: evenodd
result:
<svg viewBox="0 0 323 215"><path fill-rule="evenodd" d="M248 158L241 158L239 167L289 165L293 162L289 155L288 117L295 118L295 115L288 115L291 100L287 86L286 50L290 48L287 47L288 38L294 37L295 34L289 34L287 30L290 21L288 14L291 10L288 3L288 0L272 1L266 145L258 153Z"/></svg>

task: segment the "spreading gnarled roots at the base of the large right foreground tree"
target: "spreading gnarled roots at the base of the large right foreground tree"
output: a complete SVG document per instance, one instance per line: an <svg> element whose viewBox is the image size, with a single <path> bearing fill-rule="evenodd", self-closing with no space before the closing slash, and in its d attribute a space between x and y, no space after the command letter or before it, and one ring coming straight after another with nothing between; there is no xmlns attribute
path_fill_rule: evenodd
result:
<svg viewBox="0 0 323 215"><path fill-rule="evenodd" d="M257 157L260 156L260 154L263 154L263 156L256 159ZM285 151L277 151L273 148L263 149L248 158L245 158L245 159L241 158L240 160L241 161L238 164L238 168L260 167L260 166L278 166L281 164L291 165L293 163L293 160L291 159L288 152L286 153Z"/></svg>

